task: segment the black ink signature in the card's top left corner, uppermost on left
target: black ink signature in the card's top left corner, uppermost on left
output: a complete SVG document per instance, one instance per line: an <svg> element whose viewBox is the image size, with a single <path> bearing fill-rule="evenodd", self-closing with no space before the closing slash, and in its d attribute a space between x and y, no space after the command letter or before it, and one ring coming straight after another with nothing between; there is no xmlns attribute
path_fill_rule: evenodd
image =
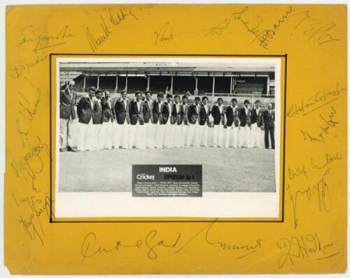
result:
<svg viewBox="0 0 350 278"><path fill-rule="evenodd" d="M55 47L57 45L63 45L66 43L64 39L76 36L69 33L68 28L69 26L66 25L54 36L49 36L48 29L46 29L46 27L34 28L32 25L27 25L22 29L22 38L20 39L18 45L20 46L27 43L34 43L34 53L50 47ZM50 44L50 41L54 42Z"/></svg>

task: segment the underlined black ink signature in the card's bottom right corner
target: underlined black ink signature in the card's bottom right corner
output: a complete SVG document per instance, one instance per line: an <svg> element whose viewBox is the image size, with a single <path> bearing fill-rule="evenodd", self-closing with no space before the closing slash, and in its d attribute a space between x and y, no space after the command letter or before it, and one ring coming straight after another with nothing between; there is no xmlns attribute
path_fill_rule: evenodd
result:
<svg viewBox="0 0 350 278"><path fill-rule="evenodd" d="M277 262L279 268L283 268L288 264L294 265L297 259L304 260L313 256L322 256L317 258L321 260L339 254L337 252L330 256L325 256L328 255L327 252L329 252L330 248L334 247L334 243L322 242L317 232L290 238L280 238L277 246L283 251Z"/></svg>

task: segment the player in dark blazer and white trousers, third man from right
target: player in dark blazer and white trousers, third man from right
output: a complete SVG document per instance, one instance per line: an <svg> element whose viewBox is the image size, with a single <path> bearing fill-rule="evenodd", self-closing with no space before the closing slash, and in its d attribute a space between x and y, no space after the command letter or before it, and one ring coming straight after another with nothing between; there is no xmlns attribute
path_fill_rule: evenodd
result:
<svg viewBox="0 0 350 278"><path fill-rule="evenodd" d="M238 132L238 146L250 147L250 131L251 131L251 108L249 108L249 101L244 101L244 106L239 110L239 132Z"/></svg>

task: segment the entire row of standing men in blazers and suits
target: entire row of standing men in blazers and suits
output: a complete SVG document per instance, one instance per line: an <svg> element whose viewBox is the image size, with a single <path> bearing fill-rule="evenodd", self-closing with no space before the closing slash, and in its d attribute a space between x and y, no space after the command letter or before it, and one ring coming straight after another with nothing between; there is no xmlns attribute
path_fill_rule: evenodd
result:
<svg viewBox="0 0 350 278"><path fill-rule="evenodd" d="M237 100L225 107L223 99L218 98L212 108L208 98L195 97L194 103L188 103L188 97L162 93L152 100L151 92L135 94L134 100L127 98L127 92L115 103L109 92L90 87L88 96L80 98L76 113L74 105L76 93L74 86L68 86L60 94L60 151L74 152L71 134L71 122L78 114L77 151L94 149L131 149L207 147L208 132L214 122L213 147L261 147L262 130L265 130L265 148L274 149L274 111L272 105L267 110L260 108L255 101L250 108L249 101L239 108ZM181 98L181 99L180 99Z"/></svg>

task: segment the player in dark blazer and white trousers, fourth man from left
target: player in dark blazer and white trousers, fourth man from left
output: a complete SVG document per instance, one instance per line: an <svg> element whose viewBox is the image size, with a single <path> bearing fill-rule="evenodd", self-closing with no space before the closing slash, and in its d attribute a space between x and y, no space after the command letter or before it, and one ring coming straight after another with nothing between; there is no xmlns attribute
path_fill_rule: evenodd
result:
<svg viewBox="0 0 350 278"><path fill-rule="evenodd" d="M106 91L104 96L102 96L102 142L104 144L104 149L112 148L112 129L114 121L114 110L111 101L111 94Z"/></svg>

